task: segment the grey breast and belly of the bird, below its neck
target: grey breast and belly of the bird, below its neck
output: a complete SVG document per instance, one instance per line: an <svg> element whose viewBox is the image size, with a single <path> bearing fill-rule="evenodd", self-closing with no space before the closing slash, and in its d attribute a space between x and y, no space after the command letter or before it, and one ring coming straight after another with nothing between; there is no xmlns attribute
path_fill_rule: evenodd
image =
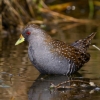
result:
<svg viewBox="0 0 100 100"><path fill-rule="evenodd" d="M78 69L75 67L75 63L71 59L66 59L63 56L60 56L57 52L52 53L50 48L46 46L37 49L30 46L28 48L28 54L33 65L41 73L71 74Z"/></svg>

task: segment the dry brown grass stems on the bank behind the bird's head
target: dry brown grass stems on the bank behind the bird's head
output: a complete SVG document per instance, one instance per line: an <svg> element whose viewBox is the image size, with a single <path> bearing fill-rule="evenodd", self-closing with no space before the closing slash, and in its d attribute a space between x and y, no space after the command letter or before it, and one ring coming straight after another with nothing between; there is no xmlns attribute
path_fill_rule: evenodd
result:
<svg viewBox="0 0 100 100"><path fill-rule="evenodd" d="M65 4L70 5L70 3ZM58 24L61 22L76 23L68 28L63 27L64 30L80 24L94 23L92 20L77 19L52 11L51 7L48 7L43 0L0 0L0 5L0 9L3 8L0 14L0 30L10 28L22 29L27 23L48 24L50 22L53 24L55 21ZM41 15L49 16L51 20L48 22L49 18Z"/></svg>

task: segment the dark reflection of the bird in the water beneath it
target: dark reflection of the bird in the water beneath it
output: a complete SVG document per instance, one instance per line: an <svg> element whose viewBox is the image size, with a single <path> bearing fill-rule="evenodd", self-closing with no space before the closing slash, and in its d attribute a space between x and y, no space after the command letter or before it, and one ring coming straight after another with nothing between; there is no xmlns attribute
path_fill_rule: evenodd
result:
<svg viewBox="0 0 100 100"><path fill-rule="evenodd" d="M77 76L78 78L75 78ZM52 75L52 76L43 76L40 75L37 80L31 86L28 98L29 100L79 100L82 98L90 99L97 96L100 91L95 93L96 86L83 86L85 83L88 83L90 80L88 78L82 78L79 75L75 76L61 76L61 75ZM80 77L80 78L79 78ZM83 81L84 83L74 82L73 84L77 86L75 88L67 89L56 89L50 90L50 83L59 84L63 81L71 80ZM81 88L79 88L82 86ZM66 83L66 86L72 86L71 82ZM100 90L100 88L99 88Z"/></svg>

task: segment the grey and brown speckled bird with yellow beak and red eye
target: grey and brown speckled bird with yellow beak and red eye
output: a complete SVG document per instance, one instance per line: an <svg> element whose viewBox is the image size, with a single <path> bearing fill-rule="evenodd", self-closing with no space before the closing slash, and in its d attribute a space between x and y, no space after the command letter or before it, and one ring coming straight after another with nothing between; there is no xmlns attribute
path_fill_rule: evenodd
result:
<svg viewBox="0 0 100 100"><path fill-rule="evenodd" d="M41 74L70 75L90 60L87 49L95 34L93 32L84 39L66 44L53 39L39 26L28 24L15 45L28 41L29 59Z"/></svg>

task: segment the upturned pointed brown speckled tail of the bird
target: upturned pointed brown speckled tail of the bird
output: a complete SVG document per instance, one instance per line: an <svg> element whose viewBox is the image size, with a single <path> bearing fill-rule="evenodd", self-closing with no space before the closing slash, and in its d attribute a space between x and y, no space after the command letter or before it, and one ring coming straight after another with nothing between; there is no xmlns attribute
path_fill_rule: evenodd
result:
<svg viewBox="0 0 100 100"><path fill-rule="evenodd" d="M85 39L81 39L78 41L75 41L72 46L74 46L75 48L79 49L81 52L86 52L89 45L91 44L91 40L94 38L96 32L90 34L88 37L86 37Z"/></svg>

